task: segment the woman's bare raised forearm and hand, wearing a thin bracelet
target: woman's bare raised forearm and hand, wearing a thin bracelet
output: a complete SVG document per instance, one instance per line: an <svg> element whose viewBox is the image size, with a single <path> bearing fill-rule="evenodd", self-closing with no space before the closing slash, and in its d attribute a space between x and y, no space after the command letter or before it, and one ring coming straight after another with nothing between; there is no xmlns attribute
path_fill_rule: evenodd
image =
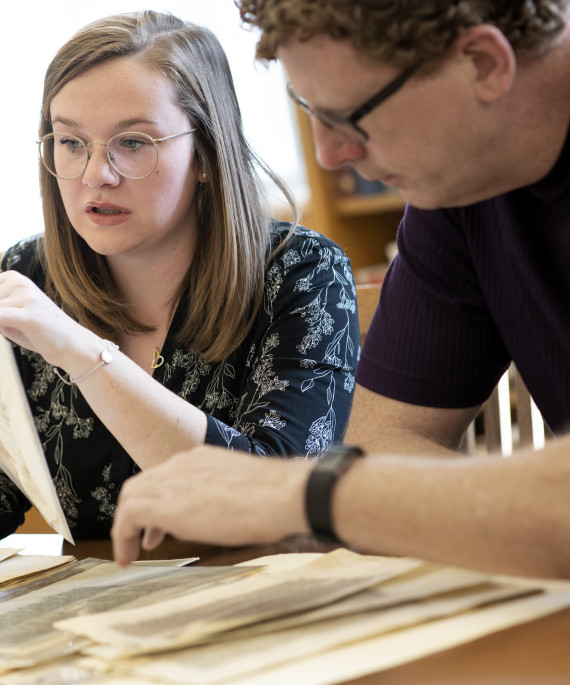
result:
<svg viewBox="0 0 570 685"><path fill-rule="evenodd" d="M15 271L0 273L0 333L76 379L91 410L141 469L204 442L201 409L120 351L101 365L106 342Z"/></svg>

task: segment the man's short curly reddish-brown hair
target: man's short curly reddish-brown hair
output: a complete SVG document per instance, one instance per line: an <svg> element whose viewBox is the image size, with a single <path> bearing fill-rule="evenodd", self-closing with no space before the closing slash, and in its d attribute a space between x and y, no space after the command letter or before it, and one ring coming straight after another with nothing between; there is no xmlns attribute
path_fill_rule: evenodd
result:
<svg viewBox="0 0 570 685"><path fill-rule="evenodd" d="M568 0L235 0L244 24L261 29L257 57L275 59L290 38L325 34L405 68L442 57L477 24L492 24L519 55L545 52L562 31Z"/></svg>

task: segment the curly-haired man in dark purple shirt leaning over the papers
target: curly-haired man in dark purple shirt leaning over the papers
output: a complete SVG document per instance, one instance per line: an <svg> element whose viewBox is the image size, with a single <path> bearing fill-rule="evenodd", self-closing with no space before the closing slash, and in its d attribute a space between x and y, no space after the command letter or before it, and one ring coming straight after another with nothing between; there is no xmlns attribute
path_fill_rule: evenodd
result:
<svg viewBox="0 0 570 685"><path fill-rule="evenodd" d="M312 529L362 551L570 576L570 439L510 459L453 452L511 360L551 428L570 419L567 0L238 4L311 115L320 163L409 203L345 439L368 456L178 455L126 484L117 559L143 529L145 547Z"/></svg>

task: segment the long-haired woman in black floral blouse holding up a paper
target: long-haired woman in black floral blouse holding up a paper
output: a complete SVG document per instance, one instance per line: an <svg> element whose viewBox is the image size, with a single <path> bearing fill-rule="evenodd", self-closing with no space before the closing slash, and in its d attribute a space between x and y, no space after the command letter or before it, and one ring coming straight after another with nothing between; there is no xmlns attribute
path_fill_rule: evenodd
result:
<svg viewBox="0 0 570 685"><path fill-rule="evenodd" d="M75 537L107 536L125 479L181 449L342 438L350 266L269 219L208 30L152 11L86 26L48 68L39 147L45 235L3 259L0 331ZM29 503L0 487L7 535Z"/></svg>

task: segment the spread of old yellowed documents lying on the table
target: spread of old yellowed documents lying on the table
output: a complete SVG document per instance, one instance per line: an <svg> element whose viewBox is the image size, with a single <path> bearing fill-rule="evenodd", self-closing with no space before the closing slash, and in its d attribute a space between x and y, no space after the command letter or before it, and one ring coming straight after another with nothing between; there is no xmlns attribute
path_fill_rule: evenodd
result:
<svg viewBox="0 0 570 685"><path fill-rule="evenodd" d="M0 598L3 685L325 685L570 606L570 583L339 549L224 568L89 559Z"/></svg>

